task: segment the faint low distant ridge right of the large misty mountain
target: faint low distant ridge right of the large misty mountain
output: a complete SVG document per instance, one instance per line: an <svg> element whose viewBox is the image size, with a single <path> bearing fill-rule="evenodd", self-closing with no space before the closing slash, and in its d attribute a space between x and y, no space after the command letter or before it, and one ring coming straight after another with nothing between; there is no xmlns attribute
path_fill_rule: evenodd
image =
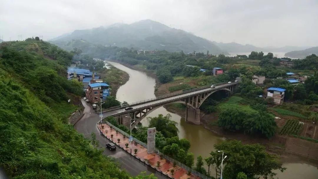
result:
<svg viewBox="0 0 318 179"><path fill-rule="evenodd" d="M213 41L215 45L220 47L222 50L227 51L229 53L243 53L243 52L289 52L293 50L304 50L309 47L295 47L295 46L285 46L285 47L256 47L253 45L242 45L235 42L232 43L218 43Z"/></svg>

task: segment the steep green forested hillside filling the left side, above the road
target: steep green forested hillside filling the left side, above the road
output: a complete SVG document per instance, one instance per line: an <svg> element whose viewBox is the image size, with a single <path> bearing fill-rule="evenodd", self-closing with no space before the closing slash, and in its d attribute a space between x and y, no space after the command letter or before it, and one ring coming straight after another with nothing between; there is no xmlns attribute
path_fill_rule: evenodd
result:
<svg viewBox="0 0 318 179"><path fill-rule="evenodd" d="M129 178L67 124L82 93L73 54L36 39L0 46L0 166L12 178Z"/></svg>

